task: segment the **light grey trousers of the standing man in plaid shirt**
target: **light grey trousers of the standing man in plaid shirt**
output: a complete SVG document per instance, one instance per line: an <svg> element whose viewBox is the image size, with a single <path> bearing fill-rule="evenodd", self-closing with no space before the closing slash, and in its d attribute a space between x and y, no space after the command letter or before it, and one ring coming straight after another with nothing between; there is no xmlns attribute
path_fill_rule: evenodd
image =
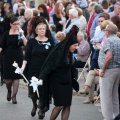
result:
<svg viewBox="0 0 120 120"><path fill-rule="evenodd" d="M104 120L114 120L119 114L118 85L120 68L107 69L100 77L100 100Z"/></svg>

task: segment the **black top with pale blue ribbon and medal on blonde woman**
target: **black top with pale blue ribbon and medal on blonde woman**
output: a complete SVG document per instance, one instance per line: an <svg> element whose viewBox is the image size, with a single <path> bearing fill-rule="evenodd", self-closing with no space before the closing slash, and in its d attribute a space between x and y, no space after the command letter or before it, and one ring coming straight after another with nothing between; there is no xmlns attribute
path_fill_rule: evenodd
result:
<svg viewBox="0 0 120 120"><path fill-rule="evenodd" d="M48 56L52 44L50 39L38 42L35 38L30 39L26 46L25 60L28 62L27 75L30 80L32 76L38 78L41 67Z"/></svg>

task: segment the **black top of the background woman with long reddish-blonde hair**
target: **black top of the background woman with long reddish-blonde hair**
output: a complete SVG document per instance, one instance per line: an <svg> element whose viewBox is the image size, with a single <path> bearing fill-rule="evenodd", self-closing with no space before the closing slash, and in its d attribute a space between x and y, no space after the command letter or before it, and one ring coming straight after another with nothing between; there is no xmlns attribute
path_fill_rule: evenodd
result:
<svg viewBox="0 0 120 120"><path fill-rule="evenodd" d="M58 18L55 14L53 15L53 22L56 25L56 32L62 31L63 25L59 23L61 21L61 18Z"/></svg>

